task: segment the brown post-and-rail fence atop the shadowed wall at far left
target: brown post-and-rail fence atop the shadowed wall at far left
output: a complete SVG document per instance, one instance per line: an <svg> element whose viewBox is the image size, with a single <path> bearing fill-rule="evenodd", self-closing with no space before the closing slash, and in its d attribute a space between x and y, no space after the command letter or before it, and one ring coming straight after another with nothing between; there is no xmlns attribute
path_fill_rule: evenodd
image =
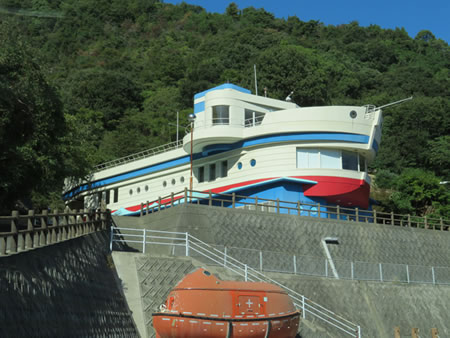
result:
<svg viewBox="0 0 450 338"><path fill-rule="evenodd" d="M11 216L0 216L0 256L28 251L34 248L65 241L99 230L104 230L111 217L109 210L72 211L66 209L43 210L28 215L12 211Z"/></svg>

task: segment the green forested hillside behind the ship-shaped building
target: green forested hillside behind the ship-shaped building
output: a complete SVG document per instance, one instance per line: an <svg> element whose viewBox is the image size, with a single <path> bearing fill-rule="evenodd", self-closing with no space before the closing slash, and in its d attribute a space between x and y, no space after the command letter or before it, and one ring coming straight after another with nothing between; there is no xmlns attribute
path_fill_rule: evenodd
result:
<svg viewBox="0 0 450 338"><path fill-rule="evenodd" d="M326 26L264 9L151 0L0 0L0 204L174 141L197 92L231 82L301 106L382 105L382 205L450 216L450 49L430 31ZM411 169L413 168L413 169ZM411 188L412 187L412 188ZM409 191L408 189L412 189ZM376 190L377 192L377 190ZM56 198L57 199L57 198ZM0 208L0 209L1 209Z"/></svg>

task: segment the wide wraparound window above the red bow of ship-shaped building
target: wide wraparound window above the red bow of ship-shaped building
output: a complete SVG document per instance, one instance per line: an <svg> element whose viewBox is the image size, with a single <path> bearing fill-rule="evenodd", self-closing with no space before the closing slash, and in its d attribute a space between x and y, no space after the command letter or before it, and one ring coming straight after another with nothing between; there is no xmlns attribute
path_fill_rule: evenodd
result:
<svg viewBox="0 0 450 338"><path fill-rule="evenodd" d="M297 149L297 168L366 171L366 159L356 152L333 149Z"/></svg>

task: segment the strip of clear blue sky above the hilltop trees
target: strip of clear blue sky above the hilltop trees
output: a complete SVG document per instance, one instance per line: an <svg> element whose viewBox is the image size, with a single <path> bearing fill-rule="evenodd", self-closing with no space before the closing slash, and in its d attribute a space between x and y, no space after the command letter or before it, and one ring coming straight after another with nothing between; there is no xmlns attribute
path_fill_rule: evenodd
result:
<svg viewBox="0 0 450 338"><path fill-rule="evenodd" d="M181 3L164 0L165 3ZM224 13L232 0L185 0L208 12ZM235 0L240 9L264 8L278 18L296 15L302 21L319 20L325 25L358 21L361 26L404 27L414 38L430 30L436 38L450 41L450 0Z"/></svg>

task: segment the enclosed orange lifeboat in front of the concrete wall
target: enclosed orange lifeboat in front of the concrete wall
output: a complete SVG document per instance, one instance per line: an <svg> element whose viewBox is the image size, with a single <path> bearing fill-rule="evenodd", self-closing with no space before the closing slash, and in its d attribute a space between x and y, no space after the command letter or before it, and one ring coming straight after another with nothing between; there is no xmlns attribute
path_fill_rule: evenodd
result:
<svg viewBox="0 0 450 338"><path fill-rule="evenodd" d="M295 337L300 312L280 287L222 281L205 269L186 275L153 313L157 338Z"/></svg>

